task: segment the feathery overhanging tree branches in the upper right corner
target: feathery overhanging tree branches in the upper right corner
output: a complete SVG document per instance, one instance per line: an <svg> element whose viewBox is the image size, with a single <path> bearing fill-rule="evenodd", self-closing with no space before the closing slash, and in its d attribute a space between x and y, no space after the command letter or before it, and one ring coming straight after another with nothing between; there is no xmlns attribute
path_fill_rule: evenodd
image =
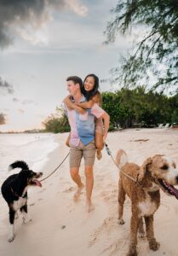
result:
<svg viewBox="0 0 178 256"><path fill-rule="evenodd" d="M112 9L114 20L106 27L106 44L118 34L141 30L141 40L122 66L113 69L123 86L152 84L152 89L171 90L178 87L178 1L177 0L119 0ZM150 77L153 77L152 81Z"/></svg>

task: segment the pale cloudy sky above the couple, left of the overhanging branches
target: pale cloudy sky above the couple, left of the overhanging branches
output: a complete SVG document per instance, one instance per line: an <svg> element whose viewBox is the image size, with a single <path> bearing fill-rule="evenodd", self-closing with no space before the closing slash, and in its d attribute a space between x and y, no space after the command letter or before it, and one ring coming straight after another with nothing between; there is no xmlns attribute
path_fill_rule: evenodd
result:
<svg viewBox="0 0 178 256"><path fill-rule="evenodd" d="M67 95L66 78L110 78L129 40L105 45L118 0L0 0L0 131L42 128ZM115 90L110 82L100 90Z"/></svg>

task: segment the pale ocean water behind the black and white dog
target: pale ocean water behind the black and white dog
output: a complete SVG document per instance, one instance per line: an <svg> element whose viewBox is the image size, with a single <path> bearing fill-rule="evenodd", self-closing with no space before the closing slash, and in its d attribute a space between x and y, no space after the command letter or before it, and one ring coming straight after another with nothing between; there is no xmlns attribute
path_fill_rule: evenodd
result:
<svg viewBox="0 0 178 256"><path fill-rule="evenodd" d="M57 146L52 133L0 134L0 185L14 173L8 171L11 163L25 160L34 172L39 172Z"/></svg>

